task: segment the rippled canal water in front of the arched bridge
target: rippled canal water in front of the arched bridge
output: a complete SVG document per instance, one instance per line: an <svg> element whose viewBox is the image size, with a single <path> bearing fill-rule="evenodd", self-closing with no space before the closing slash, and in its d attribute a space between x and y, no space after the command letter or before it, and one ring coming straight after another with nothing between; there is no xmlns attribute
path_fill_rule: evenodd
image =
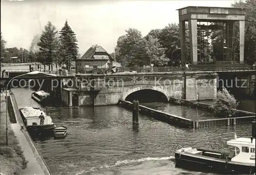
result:
<svg viewBox="0 0 256 175"><path fill-rule="evenodd" d="M31 90L12 89L19 108L40 107L31 99ZM170 104L145 104L155 109L191 117L210 117L195 109ZM186 111L186 112L184 112ZM229 151L226 141L249 137L251 126L194 130L170 126L140 115L139 128L132 126L132 112L118 106L48 107L57 126L66 126L65 139L34 140L53 174L211 174L175 168L177 145Z"/></svg>

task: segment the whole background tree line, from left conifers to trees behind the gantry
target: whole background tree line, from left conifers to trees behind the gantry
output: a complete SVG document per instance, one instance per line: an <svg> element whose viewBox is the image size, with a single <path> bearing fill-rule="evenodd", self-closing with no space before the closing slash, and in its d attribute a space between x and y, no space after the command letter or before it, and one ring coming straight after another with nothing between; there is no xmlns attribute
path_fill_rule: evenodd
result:
<svg viewBox="0 0 256 175"><path fill-rule="evenodd" d="M245 50L246 63L256 61L256 1L234 2L231 7L246 8L245 21ZM212 23L217 24L217 23ZM236 24L236 27L239 24ZM186 28L188 28L186 26ZM236 53L239 53L239 32L235 33ZM38 38L38 39L37 39ZM225 36L222 30L201 30L199 52L202 61L223 61ZM66 20L64 27L58 32L49 21L40 37L35 37L31 43L30 51L23 48L9 48L6 53L6 41L1 33L1 61L3 62L34 62L42 64L57 63L70 64L78 56L78 46L75 33ZM39 49L34 49L36 46ZM178 65L180 63L180 36L179 24L170 23L163 29L153 29L146 36L137 29L127 29L125 35L117 40L115 47L116 61L122 66L165 66ZM176 50L177 49L177 50ZM190 43L188 30L185 31L186 62L190 62ZM174 52L175 51L175 52ZM238 54L239 55L239 54Z"/></svg>

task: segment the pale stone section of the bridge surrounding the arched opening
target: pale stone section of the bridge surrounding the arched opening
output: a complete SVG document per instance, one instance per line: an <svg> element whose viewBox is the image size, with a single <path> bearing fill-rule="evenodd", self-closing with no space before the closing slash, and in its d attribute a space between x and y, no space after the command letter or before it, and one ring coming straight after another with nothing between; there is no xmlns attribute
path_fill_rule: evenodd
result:
<svg viewBox="0 0 256 175"><path fill-rule="evenodd" d="M130 94L152 90L161 92L169 101L170 97L183 97L196 100L212 99L217 95L217 75L209 72L168 72L168 73L131 73L115 75L86 75L76 78L79 87L70 86L62 88L63 101L72 106L72 94L79 96L79 106L83 105L113 105L119 99ZM68 83L69 82L69 83ZM79 89L79 90L77 90Z"/></svg>

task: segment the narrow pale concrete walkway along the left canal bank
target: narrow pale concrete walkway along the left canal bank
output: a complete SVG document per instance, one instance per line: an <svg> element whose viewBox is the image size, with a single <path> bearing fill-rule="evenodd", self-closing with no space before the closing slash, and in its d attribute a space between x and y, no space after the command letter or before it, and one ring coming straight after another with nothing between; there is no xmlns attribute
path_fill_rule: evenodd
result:
<svg viewBox="0 0 256 175"><path fill-rule="evenodd" d="M29 136L29 133L26 131L26 127L24 126L22 117L20 116L18 106L13 94L11 95L11 101L17 121L17 123L12 123L11 127L18 139L19 145L24 151L24 157L29 161L27 168L23 170L22 175L51 175L51 172L44 162L44 159L37 151L33 140ZM24 126L24 130L21 130L21 126Z"/></svg>

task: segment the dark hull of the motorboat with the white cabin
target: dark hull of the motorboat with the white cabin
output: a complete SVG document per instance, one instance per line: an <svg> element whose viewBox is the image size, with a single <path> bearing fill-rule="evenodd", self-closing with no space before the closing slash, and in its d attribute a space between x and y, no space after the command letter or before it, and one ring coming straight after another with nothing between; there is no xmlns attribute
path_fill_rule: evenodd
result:
<svg viewBox="0 0 256 175"><path fill-rule="evenodd" d="M207 160L193 155L175 153L176 167L225 174L254 174L255 166L225 160Z"/></svg>

